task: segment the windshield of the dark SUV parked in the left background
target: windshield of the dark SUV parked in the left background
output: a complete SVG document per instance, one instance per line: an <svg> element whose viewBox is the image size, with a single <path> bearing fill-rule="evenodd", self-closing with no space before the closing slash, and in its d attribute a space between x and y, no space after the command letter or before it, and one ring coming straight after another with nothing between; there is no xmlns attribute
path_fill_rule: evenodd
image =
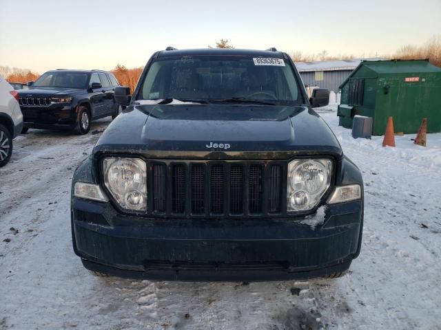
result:
<svg viewBox="0 0 441 330"><path fill-rule="evenodd" d="M35 81L32 87L86 88L88 81L88 73L46 72Z"/></svg>

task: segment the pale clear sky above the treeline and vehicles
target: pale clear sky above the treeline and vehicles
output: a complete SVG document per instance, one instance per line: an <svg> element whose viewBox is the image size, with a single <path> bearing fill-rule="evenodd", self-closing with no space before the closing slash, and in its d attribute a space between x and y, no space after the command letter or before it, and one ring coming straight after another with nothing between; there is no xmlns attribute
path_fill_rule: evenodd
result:
<svg viewBox="0 0 441 330"><path fill-rule="evenodd" d="M145 65L168 45L379 56L441 34L441 0L0 0L0 65Z"/></svg>

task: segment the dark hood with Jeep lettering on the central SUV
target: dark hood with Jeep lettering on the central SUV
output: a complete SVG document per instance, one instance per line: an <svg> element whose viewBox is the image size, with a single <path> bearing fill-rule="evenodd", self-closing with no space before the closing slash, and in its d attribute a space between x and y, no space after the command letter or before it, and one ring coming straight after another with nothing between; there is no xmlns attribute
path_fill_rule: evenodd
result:
<svg viewBox="0 0 441 330"><path fill-rule="evenodd" d="M95 149L123 149L158 157L181 153L195 157L244 152L260 157L280 151L341 153L334 133L315 111L249 104L128 107L107 127Z"/></svg>

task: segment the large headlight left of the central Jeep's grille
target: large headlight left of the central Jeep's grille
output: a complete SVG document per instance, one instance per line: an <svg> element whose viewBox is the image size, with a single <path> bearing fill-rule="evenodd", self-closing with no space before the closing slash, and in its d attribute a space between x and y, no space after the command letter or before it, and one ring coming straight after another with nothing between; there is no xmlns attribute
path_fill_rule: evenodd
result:
<svg viewBox="0 0 441 330"><path fill-rule="evenodd" d="M147 166L138 158L103 160L104 184L121 208L147 210Z"/></svg>

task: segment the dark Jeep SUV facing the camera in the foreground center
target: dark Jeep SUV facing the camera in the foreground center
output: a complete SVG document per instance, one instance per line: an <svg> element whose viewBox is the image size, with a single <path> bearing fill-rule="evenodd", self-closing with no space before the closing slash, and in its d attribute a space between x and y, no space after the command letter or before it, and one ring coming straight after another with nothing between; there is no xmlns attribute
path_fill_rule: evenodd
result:
<svg viewBox="0 0 441 330"><path fill-rule="evenodd" d="M72 182L72 241L95 273L180 281L340 276L363 184L276 50L156 52Z"/></svg>

